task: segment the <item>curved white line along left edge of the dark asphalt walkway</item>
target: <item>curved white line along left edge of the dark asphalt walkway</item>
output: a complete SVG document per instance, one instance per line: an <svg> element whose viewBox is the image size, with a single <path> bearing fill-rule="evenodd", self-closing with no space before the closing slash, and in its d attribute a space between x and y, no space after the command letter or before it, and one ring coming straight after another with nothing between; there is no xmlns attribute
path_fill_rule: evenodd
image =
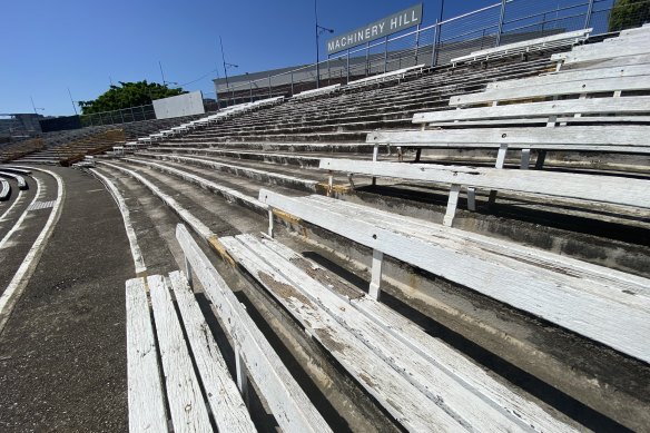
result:
<svg viewBox="0 0 650 433"><path fill-rule="evenodd" d="M57 175L56 173L49 171L49 170L43 170L41 168L31 168L31 167L26 167L26 168L29 168L30 170L38 170L38 171L46 173L46 174L52 176L55 179L57 179L57 187L58 187L57 200L56 200L55 207L52 208L52 211L50 213L50 217L48 218L43 229L41 230L40 235L38 236L36 242L33 243L33 245L29 249L29 253L27 253L27 256L24 256L22 264L18 268L18 272L16 273L16 275L13 275L13 278L9 283L9 286L7 286L7 288L2 293L2 296L0 296L0 334L2 334L2 331L4 331L4 325L7 325L7 321L9 319L11 312L13 311L13 307L16 306L16 303L18 302L18 299L20 298L20 295L22 295L22 292L27 287L27 284L29 283L29 278L33 274L33 270L36 269L36 267L40 260L40 257L41 257L41 255L45 250L45 247L48 243L48 239L52 235L52 232L55 230L55 226L57 225L57 223L59 222L59 218L61 217L61 209L63 207L62 203L63 203L63 197L66 195L66 189L63 187L63 179L61 179L61 177L59 175ZM37 184L37 189L38 189L38 184ZM38 197L38 194L37 194L37 197Z"/></svg>

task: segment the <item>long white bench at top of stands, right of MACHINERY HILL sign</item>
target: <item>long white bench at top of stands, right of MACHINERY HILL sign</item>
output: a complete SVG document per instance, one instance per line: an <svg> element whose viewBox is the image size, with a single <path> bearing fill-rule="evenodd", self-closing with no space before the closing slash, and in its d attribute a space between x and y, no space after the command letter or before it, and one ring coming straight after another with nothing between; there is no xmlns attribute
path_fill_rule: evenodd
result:
<svg viewBox="0 0 650 433"><path fill-rule="evenodd" d="M500 47L487 48L480 51L473 51L470 55L451 59L451 63L471 63L475 61L486 61L503 57L518 56L526 52L542 51L546 49L572 46L580 43L589 38L593 29L570 31L565 33L546 36L543 38L524 40L521 42L508 43Z"/></svg>

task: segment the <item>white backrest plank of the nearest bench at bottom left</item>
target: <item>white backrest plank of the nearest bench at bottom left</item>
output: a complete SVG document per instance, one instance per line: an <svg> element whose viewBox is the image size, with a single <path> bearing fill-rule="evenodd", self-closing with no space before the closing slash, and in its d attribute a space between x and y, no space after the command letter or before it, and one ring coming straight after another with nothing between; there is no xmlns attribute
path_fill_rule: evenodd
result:
<svg viewBox="0 0 650 433"><path fill-rule="evenodd" d="M329 432L325 420L185 226L177 226L176 238L217 309L226 332L242 348L246 368L267 401L278 425L286 432Z"/></svg>

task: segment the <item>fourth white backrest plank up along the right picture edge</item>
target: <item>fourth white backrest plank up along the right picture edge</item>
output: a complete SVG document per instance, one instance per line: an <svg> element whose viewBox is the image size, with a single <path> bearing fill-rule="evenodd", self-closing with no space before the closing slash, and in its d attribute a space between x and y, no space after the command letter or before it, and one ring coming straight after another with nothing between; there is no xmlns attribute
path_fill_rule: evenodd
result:
<svg viewBox="0 0 650 433"><path fill-rule="evenodd" d="M413 115L413 124L503 118L523 119L526 117L548 118L550 116L567 116L574 114L650 114L650 97L567 99L530 104L511 104L495 107L465 108L462 110L417 112ZM615 118L612 118L612 121L615 120Z"/></svg>

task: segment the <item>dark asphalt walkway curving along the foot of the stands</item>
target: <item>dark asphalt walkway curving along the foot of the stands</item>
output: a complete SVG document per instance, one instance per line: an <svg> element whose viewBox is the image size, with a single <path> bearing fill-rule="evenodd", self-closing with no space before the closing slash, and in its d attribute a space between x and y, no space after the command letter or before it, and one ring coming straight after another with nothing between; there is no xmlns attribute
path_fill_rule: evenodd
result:
<svg viewBox="0 0 650 433"><path fill-rule="evenodd" d="M47 168L66 197L0 335L0 431L126 431L124 285L135 269L122 219L97 179Z"/></svg>

